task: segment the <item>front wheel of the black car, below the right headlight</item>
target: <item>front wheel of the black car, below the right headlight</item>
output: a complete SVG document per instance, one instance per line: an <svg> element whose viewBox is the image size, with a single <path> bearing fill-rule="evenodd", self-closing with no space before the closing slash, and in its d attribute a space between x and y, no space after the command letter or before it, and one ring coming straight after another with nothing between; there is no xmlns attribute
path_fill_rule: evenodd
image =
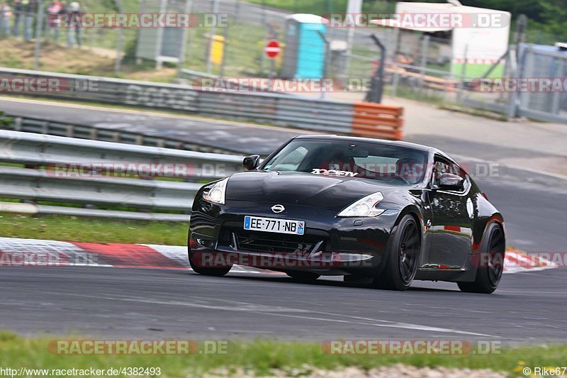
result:
<svg viewBox="0 0 567 378"><path fill-rule="evenodd" d="M420 258L421 235L415 219L406 215L391 236L386 265L373 285L379 289L407 290L413 282Z"/></svg>

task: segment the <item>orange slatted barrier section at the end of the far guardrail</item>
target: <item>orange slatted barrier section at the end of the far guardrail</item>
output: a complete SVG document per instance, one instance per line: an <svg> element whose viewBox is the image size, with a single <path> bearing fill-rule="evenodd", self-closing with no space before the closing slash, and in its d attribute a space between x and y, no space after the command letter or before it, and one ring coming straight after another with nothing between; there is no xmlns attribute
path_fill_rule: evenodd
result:
<svg viewBox="0 0 567 378"><path fill-rule="evenodd" d="M357 102L352 111L352 134L402 140L403 108Z"/></svg>

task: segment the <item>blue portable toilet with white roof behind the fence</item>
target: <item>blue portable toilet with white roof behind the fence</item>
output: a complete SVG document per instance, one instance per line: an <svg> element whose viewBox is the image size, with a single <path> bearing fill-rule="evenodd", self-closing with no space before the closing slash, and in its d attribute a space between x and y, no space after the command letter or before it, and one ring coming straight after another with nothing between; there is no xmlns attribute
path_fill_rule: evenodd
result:
<svg viewBox="0 0 567 378"><path fill-rule="evenodd" d="M282 77L319 79L325 74L327 20L315 14L297 13L286 18L286 50Z"/></svg>

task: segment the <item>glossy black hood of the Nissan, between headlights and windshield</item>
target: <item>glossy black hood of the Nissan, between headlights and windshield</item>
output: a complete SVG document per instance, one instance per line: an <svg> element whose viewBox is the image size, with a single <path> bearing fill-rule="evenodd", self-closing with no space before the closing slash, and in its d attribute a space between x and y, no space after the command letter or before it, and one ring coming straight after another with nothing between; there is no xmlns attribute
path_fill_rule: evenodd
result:
<svg viewBox="0 0 567 378"><path fill-rule="evenodd" d="M226 199L318 206L341 211L364 196L395 188L400 187L372 179L254 171L233 174L228 181Z"/></svg>

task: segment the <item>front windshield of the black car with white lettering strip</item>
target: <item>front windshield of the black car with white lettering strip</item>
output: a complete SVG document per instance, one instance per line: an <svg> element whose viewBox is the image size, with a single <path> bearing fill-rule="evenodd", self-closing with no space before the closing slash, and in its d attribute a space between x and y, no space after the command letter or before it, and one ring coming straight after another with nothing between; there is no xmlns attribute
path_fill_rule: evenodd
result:
<svg viewBox="0 0 567 378"><path fill-rule="evenodd" d="M407 185L422 181L426 163L427 152L403 146L349 140L295 139L266 161L262 168Z"/></svg>

